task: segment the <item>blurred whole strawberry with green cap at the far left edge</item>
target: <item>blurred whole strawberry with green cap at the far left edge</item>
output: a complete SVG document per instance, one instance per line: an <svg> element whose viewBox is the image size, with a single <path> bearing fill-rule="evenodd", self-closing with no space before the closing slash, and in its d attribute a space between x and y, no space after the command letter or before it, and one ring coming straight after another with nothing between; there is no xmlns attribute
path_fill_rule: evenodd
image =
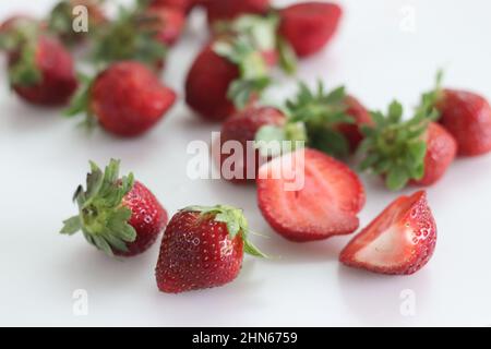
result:
<svg viewBox="0 0 491 349"><path fill-rule="evenodd" d="M34 105L64 105L75 92L77 81L73 58L63 45L40 33L35 22L15 25L3 38L13 91Z"/></svg>

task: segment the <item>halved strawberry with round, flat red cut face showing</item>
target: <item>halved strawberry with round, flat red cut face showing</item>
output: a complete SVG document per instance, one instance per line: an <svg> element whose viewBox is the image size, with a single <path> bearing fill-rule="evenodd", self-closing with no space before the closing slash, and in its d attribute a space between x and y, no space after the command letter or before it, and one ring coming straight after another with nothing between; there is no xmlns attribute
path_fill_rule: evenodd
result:
<svg viewBox="0 0 491 349"><path fill-rule="evenodd" d="M348 234L359 226L364 190L346 165L310 148L274 158L258 176L258 201L270 226L304 242Z"/></svg>

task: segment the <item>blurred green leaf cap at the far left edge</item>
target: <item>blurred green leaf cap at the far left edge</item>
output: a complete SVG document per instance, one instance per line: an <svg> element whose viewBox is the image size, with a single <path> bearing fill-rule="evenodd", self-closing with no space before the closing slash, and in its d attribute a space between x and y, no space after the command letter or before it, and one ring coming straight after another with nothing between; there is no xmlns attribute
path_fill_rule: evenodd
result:
<svg viewBox="0 0 491 349"><path fill-rule="evenodd" d="M36 63L39 39L39 23L33 20L16 20L11 28L0 35L0 48L14 55L9 67L11 86L33 86L43 79Z"/></svg>

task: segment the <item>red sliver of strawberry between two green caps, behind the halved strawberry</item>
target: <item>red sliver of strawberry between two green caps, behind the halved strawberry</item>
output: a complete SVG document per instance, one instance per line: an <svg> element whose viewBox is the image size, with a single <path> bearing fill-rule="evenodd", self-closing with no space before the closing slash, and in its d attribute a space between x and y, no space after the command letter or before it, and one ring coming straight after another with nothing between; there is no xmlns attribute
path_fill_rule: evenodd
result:
<svg viewBox="0 0 491 349"><path fill-rule="evenodd" d="M349 142L351 152L355 152L363 141L363 135L360 131L360 127L363 124L373 124L372 117L367 108L355 97L347 96L345 100L348 109L346 113L355 119L355 123L344 123L337 127Z"/></svg>

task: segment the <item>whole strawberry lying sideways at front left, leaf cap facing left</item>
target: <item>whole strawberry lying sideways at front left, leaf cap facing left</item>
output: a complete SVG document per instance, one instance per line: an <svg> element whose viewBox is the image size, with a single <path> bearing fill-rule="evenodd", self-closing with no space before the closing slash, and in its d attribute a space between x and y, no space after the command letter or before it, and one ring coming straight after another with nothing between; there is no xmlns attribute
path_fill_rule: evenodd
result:
<svg viewBox="0 0 491 349"><path fill-rule="evenodd" d="M108 255L134 256L148 250L167 224L167 213L152 192L119 178L120 161L111 159L103 171L91 161L86 189L76 189L79 215L67 219L61 233L81 230L88 243Z"/></svg>

